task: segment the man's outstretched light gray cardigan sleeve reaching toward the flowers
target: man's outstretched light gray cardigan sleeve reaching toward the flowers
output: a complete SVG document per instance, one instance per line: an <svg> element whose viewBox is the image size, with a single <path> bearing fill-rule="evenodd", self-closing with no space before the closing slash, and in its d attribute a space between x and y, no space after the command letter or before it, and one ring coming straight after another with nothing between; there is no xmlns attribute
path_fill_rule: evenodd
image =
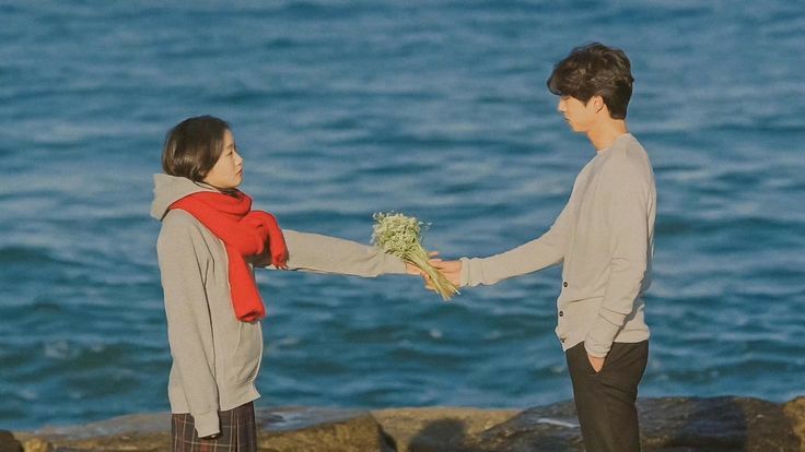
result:
<svg viewBox="0 0 805 452"><path fill-rule="evenodd" d="M562 262L570 211L569 202L547 233L520 247L489 258L462 258L460 286L492 285Z"/></svg>

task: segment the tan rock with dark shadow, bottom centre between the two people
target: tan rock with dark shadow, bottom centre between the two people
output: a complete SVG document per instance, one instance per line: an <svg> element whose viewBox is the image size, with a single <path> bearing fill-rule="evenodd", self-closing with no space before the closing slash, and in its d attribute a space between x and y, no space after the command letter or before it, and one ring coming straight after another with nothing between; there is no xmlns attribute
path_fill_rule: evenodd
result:
<svg viewBox="0 0 805 452"><path fill-rule="evenodd" d="M516 409L429 407L382 409L372 412L372 416L394 438L398 452L427 452L459 447L517 413Z"/></svg>

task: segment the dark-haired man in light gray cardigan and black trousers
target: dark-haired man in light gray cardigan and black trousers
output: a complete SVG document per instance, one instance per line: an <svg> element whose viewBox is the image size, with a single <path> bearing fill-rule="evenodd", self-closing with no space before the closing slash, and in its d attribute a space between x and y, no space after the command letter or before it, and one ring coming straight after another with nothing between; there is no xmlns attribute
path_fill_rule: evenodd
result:
<svg viewBox="0 0 805 452"><path fill-rule="evenodd" d="M626 124L631 66L615 48L573 49L547 81L558 110L596 155L541 237L483 259L433 260L458 286L490 285L562 263L556 329L587 452L640 451L635 402L649 356L656 190L649 156Z"/></svg>

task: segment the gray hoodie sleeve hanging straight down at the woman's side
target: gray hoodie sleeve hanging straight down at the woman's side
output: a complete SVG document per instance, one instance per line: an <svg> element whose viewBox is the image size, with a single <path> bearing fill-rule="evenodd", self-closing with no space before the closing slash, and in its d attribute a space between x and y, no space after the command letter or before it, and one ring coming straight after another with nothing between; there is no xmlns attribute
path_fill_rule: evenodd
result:
<svg viewBox="0 0 805 452"><path fill-rule="evenodd" d="M207 305L205 272L211 260L198 243L203 238L189 215L165 217L156 241L167 314L167 336L198 436L220 432L212 321Z"/></svg>

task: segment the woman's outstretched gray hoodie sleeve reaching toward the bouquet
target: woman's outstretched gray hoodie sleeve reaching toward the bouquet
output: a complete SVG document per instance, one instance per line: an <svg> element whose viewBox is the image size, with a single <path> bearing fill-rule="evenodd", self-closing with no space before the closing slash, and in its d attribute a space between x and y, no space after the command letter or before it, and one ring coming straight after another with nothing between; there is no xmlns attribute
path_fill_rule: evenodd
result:
<svg viewBox="0 0 805 452"><path fill-rule="evenodd" d="M386 254L377 247L291 229L282 229L282 234L288 246L290 270L363 277L406 273L401 259ZM265 258L256 264L273 269L265 263Z"/></svg>

